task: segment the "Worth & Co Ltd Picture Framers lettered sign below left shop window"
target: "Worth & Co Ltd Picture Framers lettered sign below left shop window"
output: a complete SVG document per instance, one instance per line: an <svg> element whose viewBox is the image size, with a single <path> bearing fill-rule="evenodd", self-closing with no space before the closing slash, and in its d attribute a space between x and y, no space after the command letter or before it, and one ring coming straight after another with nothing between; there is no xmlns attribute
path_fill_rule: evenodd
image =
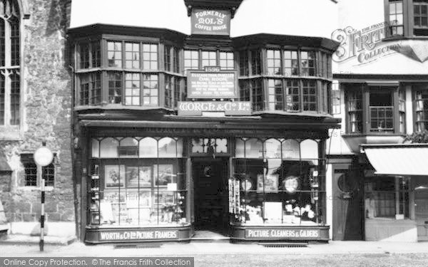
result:
<svg viewBox="0 0 428 267"><path fill-rule="evenodd" d="M157 240L178 239L177 230L153 231L106 231L100 233L100 241L127 241L127 240Z"/></svg>

